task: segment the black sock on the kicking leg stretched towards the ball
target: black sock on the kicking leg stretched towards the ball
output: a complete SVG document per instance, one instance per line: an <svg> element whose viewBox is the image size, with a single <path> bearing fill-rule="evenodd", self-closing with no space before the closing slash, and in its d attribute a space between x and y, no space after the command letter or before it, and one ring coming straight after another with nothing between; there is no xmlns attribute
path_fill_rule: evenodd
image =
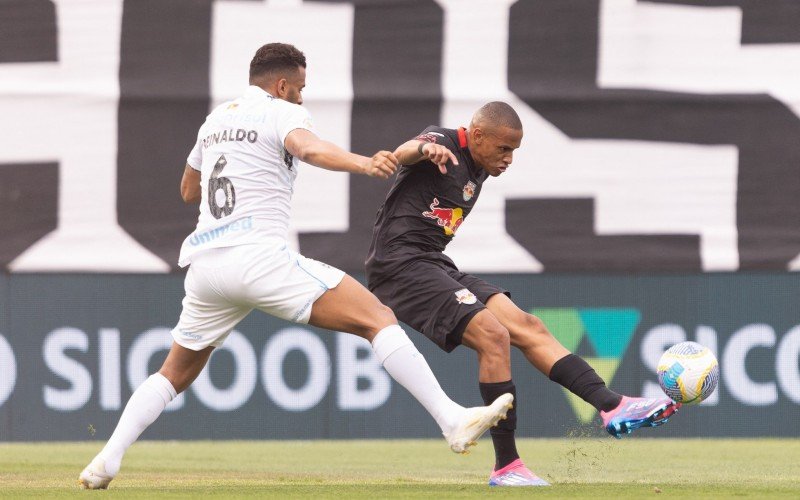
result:
<svg viewBox="0 0 800 500"><path fill-rule="evenodd" d="M622 401L622 396L606 387L589 363L574 354L555 362L550 369L550 380L563 385L598 411L613 410Z"/></svg>

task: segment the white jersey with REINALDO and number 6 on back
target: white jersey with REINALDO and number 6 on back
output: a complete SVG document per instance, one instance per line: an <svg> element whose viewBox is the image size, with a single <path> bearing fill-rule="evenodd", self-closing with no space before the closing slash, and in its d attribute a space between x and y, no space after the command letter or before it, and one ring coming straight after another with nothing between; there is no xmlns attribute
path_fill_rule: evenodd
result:
<svg viewBox="0 0 800 500"><path fill-rule="evenodd" d="M186 160L200 171L202 199L178 265L201 250L286 238L298 161L284 140L298 128L311 130L305 108L252 85L208 115Z"/></svg>

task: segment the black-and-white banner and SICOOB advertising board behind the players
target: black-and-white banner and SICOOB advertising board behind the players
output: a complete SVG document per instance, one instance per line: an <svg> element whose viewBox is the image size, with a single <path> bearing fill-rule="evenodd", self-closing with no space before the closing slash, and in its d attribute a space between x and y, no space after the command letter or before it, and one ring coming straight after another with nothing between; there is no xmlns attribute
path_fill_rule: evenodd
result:
<svg viewBox="0 0 800 500"><path fill-rule="evenodd" d="M1 441L105 438L157 368L185 157L270 41L306 52L319 134L359 153L511 103L522 148L448 254L617 390L657 394L667 346L710 346L719 390L652 435L800 434L800 2L3 0ZM388 186L303 168L293 244L361 276ZM412 338L479 402L470 352ZM513 364L521 434L596 429ZM262 314L169 410L145 437L436 435L364 341Z"/></svg>

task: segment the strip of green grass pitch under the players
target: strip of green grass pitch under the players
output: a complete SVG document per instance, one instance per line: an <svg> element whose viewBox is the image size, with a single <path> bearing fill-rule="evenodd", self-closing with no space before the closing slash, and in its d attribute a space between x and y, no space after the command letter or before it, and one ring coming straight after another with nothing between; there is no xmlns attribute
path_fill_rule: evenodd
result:
<svg viewBox="0 0 800 500"><path fill-rule="evenodd" d="M0 445L0 496L39 498L800 498L800 440L525 439L550 488L486 486L491 441L140 442L106 492L77 477L99 443Z"/></svg>

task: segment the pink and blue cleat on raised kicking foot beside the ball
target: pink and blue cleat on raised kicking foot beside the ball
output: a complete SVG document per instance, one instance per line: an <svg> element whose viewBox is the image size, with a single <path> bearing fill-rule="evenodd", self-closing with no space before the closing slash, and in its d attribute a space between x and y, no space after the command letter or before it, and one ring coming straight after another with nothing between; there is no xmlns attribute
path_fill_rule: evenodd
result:
<svg viewBox="0 0 800 500"><path fill-rule="evenodd" d="M609 434L621 439L624 434L641 427L658 427L681 407L669 398L630 398L622 396L619 405L609 412L600 412L603 426Z"/></svg>

